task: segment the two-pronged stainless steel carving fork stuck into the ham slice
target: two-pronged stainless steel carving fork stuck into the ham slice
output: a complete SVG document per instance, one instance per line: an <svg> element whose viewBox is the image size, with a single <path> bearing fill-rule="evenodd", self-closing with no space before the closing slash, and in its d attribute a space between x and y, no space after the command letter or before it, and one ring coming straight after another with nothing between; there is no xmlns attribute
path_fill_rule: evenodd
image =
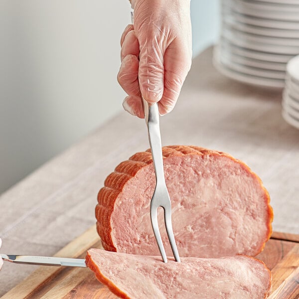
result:
<svg viewBox="0 0 299 299"><path fill-rule="evenodd" d="M144 103L145 119L149 131L149 146L151 149L153 167L154 167L154 172L156 177L156 185L150 201L151 226L163 262L167 263L167 257L161 239L159 226L158 226L158 218L157 218L157 209L158 207L162 207L164 210L164 221L165 221L166 232L172 249L172 253L175 261L180 262L180 258L178 255L177 247L174 240L173 230L172 230L171 202L170 202L168 190L165 183L165 177L164 177L158 104L155 103L153 105L149 105L148 102L146 102L144 99L143 99L143 103Z"/></svg>

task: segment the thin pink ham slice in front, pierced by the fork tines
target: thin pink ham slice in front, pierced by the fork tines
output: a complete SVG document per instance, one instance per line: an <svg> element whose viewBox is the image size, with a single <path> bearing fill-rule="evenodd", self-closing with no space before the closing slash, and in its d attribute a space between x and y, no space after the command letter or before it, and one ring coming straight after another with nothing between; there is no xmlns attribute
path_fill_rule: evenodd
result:
<svg viewBox="0 0 299 299"><path fill-rule="evenodd" d="M120 298L134 299L263 299L271 272L248 256L218 259L168 258L91 249L87 266Z"/></svg>

